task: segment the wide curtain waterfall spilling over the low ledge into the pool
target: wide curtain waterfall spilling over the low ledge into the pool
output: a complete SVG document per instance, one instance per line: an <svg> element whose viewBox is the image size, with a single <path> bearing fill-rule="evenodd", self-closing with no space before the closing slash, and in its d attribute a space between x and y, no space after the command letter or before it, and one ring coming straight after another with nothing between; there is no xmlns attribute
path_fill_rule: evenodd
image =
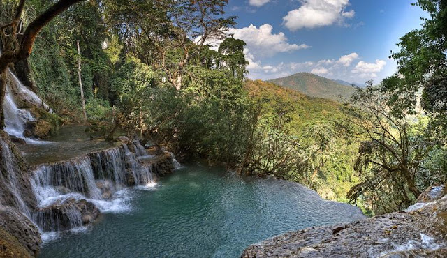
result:
<svg viewBox="0 0 447 258"><path fill-rule="evenodd" d="M147 151L138 148L139 142L129 144L135 153L122 144L82 158L37 167L31 185L38 201L32 218L38 227L43 232L80 227L82 213L76 208L80 200L86 199L101 211L114 210L113 206L122 202L116 196L120 190L154 183L152 165L138 160L138 156L147 156Z"/></svg>

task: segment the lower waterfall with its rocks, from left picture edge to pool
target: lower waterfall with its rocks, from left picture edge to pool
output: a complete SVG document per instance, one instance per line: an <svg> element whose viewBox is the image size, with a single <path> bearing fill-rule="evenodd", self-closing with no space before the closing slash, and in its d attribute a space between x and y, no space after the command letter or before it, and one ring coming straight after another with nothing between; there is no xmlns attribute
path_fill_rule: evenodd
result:
<svg viewBox="0 0 447 258"><path fill-rule="evenodd" d="M175 167L172 154L141 160L149 153L139 142L123 139L115 148L38 165L29 172L7 138L0 132L0 205L27 215L45 238L78 229L100 212L130 211L129 188L151 190L157 174Z"/></svg>

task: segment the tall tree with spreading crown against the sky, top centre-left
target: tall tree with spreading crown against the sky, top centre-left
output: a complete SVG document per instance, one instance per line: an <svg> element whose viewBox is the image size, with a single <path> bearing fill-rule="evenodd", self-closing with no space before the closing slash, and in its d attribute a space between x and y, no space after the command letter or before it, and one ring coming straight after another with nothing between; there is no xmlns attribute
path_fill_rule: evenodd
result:
<svg viewBox="0 0 447 258"><path fill-rule="evenodd" d="M114 24L123 41L156 56L147 63L161 68L168 81L184 88L186 66L202 52L207 40L223 39L225 29L235 24L235 17L223 16L228 0L109 0L106 17ZM139 57L142 57L139 56ZM145 61L145 59L142 61Z"/></svg>

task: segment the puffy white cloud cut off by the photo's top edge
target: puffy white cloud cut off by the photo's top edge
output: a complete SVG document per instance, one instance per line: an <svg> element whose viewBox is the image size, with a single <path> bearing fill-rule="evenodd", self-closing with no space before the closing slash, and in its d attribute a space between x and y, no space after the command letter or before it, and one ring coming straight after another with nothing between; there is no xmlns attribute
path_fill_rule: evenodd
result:
<svg viewBox="0 0 447 258"><path fill-rule="evenodd" d="M284 25L291 31L314 29L352 18L354 10L345 11L349 0L300 0L302 6L283 17Z"/></svg>

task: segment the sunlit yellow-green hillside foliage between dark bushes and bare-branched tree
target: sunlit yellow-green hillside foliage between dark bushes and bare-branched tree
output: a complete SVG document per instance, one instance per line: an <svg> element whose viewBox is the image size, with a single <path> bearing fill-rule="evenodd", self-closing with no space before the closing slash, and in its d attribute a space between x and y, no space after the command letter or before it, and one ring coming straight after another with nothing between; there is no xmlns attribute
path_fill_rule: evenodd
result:
<svg viewBox="0 0 447 258"><path fill-rule="evenodd" d="M242 168L247 174L273 174L313 188L327 199L346 200L356 183L356 144L339 130L342 105L311 98L266 82L247 82L257 103L257 119Z"/></svg>

